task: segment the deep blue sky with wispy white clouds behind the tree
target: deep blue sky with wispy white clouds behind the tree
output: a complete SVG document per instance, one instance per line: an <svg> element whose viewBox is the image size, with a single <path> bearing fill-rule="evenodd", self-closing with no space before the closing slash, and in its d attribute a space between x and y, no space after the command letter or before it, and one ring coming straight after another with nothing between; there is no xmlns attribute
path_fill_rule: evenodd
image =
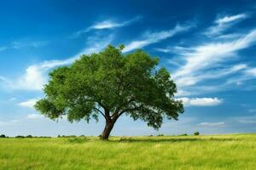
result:
<svg viewBox="0 0 256 170"><path fill-rule="evenodd" d="M98 135L104 121L49 120L33 109L48 73L125 44L159 57L184 113L156 131L121 116L112 135L256 133L255 1L1 1L0 133Z"/></svg>

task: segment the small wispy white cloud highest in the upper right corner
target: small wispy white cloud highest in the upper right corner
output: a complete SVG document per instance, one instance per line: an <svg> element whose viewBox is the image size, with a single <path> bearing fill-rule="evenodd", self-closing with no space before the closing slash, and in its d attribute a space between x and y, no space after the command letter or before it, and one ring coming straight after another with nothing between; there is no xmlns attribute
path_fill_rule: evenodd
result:
<svg viewBox="0 0 256 170"><path fill-rule="evenodd" d="M229 29L230 26L233 26L236 22L247 19L248 17L248 14L236 14L218 18L215 20L216 26L209 27L205 34L209 37L218 36L223 31Z"/></svg>

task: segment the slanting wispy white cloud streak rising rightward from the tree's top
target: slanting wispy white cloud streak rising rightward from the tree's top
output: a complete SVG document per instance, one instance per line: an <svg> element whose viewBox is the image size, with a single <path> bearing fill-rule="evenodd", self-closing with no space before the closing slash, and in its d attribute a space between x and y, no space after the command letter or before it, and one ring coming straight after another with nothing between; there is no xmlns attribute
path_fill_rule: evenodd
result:
<svg viewBox="0 0 256 170"><path fill-rule="evenodd" d="M137 48L143 48L145 46L148 46L149 44L160 42L162 40L165 40L166 38L173 37L177 33L188 31L191 28L191 26L175 26L172 30L168 31L159 31L159 32L147 32L142 40L137 40L130 42L128 45L125 46L123 52L129 52L133 49Z"/></svg>

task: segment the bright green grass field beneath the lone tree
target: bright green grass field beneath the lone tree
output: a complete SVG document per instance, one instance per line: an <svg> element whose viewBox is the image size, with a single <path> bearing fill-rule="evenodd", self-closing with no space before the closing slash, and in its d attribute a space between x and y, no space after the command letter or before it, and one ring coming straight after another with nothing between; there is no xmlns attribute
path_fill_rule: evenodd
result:
<svg viewBox="0 0 256 170"><path fill-rule="evenodd" d="M256 169L256 134L0 139L0 169Z"/></svg>

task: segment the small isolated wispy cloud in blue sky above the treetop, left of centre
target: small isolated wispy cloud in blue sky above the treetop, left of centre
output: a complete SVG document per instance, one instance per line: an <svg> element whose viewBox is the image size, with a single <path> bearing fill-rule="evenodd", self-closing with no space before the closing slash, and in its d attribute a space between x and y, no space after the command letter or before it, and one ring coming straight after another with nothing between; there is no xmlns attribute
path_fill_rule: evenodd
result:
<svg viewBox="0 0 256 170"><path fill-rule="evenodd" d="M105 30L105 29L113 29L123 26L129 26L132 23L141 20L142 16L137 16L132 18L131 20L125 20L122 22L118 22L116 20L110 19L110 20L102 20L100 22L96 22L94 25L89 26L88 28L85 28L84 30L77 31L73 34L73 38L80 37L86 32L93 31L93 30Z"/></svg>

